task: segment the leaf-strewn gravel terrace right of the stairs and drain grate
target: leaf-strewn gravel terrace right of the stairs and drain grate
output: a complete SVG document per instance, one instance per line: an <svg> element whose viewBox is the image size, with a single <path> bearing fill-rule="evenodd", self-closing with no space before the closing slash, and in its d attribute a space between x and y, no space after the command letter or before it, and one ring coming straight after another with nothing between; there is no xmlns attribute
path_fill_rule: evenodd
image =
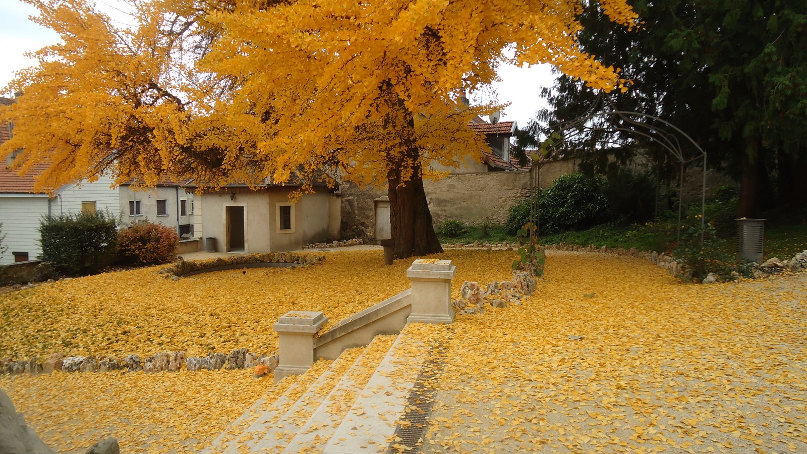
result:
<svg viewBox="0 0 807 454"><path fill-rule="evenodd" d="M429 328L449 353L423 452L807 452L807 274L548 264L523 305Z"/></svg>

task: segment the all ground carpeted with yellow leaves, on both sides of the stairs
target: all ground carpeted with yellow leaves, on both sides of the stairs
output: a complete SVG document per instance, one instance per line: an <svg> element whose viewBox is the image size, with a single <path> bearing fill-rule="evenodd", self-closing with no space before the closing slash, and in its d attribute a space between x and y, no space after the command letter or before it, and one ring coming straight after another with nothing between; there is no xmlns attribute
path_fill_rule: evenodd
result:
<svg viewBox="0 0 807 454"><path fill-rule="evenodd" d="M38 343L71 340L59 334L71 325L76 346L47 353L269 351L288 309L336 322L407 287L409 263L383 267L379 252L179 281L126 271L0 296L2 352L40 355ZM440 257L458 265L457 292L508 276L514 253ZM522 305L418 328L449 347L424 451L807 452L805 300L807 273L692 285L641 259L550 254ZM141 328L106 344L79 336L123 316ZM0 388L47 443L74 452L106 435L129 451L195 452L267 389L282 393L249 371L6 376Z"/></svg>

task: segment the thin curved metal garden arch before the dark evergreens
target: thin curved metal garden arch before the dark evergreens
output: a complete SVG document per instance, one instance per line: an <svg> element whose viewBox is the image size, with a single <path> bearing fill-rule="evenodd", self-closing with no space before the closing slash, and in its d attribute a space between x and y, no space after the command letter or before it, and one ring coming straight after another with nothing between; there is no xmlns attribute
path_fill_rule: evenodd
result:
<svg viewBox="0 0 807 454"><path fill-rule="evenodd" d="M606 111L598 111L591 113L587 116L581 116L575 120L568 121L566 123L560 124L560 128L556 129L555 132L566 132L571 129L583 129L588 131L602 131L602 132L627 132L629 134L646 137L653 141L654 143L661 145L663 149L667 150L673 157L678 159L679 164L681 165L681 171L679 174L679 198L678 198L678 228L677 230L677 240L680 242L681 240L681 217L683 212L684 206L684 166L689 162L694 162L699 158L703 159L703 180L701 182L701 191L700 191L700 243L701 246L703 245L704 240L704 228L705 228L705 211L706 211L706 152L704 149L700 148L700 145L697 144L696 141L692 140L692 137L682 131L680 128L676 127L675 124L671 124L667 120L662 120L657 116L652 116L650 114L636 112L636 111L620 111L613 107L611 103L608 103L610 107L609 110ZM593 107L593 106L592 106ZM604 120L608 120L608 118L613 118L617 116L621 118L626 124L633 125L633 128L627 128L625 126L618 126L613 125L610 128L604 126L592 126L588 124L589 120L594 120L596 118L602 118ZM646 123L638 120L633 120L630 117L639 117L642 119L649 119L655 122L659 122L663 124L663 127L667 127L672 130L672 132L665 131L663 128L659 128L657 125ZM581 131L582 132L582 131ZM676 137L675 133L684 137L689 143L695 146L696 150L700 153L700 156L696 156L695 158L687 159L684 156L684 151L679 144L678 137ZM567 141L564 139L564 141ZM619 144L618 142L613 141L605 141L604 143L610 143L613 145L623 145ZM540 171L540 170L539 170ZM540 178L540 177L533 177L533 180ZM533 181L533 191L538 186L537 181ZM533 217L533 207L530 207L530 218L534 221Z"/></svg>

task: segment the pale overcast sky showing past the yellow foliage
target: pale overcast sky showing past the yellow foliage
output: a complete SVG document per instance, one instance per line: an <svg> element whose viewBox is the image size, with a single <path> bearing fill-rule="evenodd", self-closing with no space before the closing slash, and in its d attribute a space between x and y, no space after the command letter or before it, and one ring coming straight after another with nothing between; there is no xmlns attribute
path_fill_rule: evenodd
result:
<svg viewBox="0 0 807 454"><path fill-rule="evenodd" d="M108 11L110 7L107 5L114 2L102 0L98 6ZM27 59L24 53L59 40L56 33L28 19L29 15L35 14L36 8L33 6L18 0L0 0L0 89L3 92L16 70L32 65L33 61ZM500 103L510 103L504 109L502 120L516 120L520 126L524 126L545 105L538 94L541 87L552 85L554 78L550 75L550 68L550 65L530 68L504 66L499 72L501 82L493 84L492 90L471 93L470 99L472 102L498 99Z"/></svg>

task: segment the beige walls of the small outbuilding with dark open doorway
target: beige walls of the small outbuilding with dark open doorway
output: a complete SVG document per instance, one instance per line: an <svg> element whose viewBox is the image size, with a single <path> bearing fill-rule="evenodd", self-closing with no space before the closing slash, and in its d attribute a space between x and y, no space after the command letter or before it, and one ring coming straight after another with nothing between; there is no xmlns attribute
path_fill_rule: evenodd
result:
<svg viewBox="0 0 807 454"><path fill-rule="evenodd" d="M245 253L281 252L301 249L304 244L328 239L328 201L325 189L305 194L293 205L290 231L278 230L278 206L290 204L293 188L271 187L258 191L238 188L207 192L194 201L194 218L201 218L203 236L216 238L219 251L228 251L226 238L227 207L244 207ZM235 194L234 196L232 196ZM231 200L232 198L232 200ZM201 216L199 216L201 212ZM200 229L201 230L201 229Z"/></svg>

